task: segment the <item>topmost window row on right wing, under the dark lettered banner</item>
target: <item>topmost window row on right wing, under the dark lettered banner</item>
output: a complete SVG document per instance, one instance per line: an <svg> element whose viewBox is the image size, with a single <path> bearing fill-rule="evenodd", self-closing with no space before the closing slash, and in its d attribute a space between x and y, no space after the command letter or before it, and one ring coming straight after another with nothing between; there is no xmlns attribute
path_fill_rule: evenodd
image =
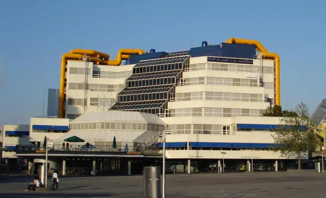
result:
<svg viewBox="0 0 326 198"><path fill-rule="evenodd" d="M259 73L260 67L250 66L250 65L230 65L230 64L219 64L219 63L199 63L199 64L189 65L189 71L198 71L198 70ZM273 74L274 68L263 67L263 73Z"/></svg>

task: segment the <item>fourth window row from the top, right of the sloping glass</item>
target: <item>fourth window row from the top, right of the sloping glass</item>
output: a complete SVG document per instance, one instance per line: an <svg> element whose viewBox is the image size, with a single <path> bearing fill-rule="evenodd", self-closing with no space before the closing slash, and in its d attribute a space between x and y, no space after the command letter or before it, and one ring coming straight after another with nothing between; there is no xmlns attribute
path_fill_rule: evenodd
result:
<svg viewBox="0 0 326 198"><path fill-rule="evenodd" d="M235 117L235 116L262 116L266 110L259 109L231 109L231 108L185 108L169 109L167 117Z"/></svg>

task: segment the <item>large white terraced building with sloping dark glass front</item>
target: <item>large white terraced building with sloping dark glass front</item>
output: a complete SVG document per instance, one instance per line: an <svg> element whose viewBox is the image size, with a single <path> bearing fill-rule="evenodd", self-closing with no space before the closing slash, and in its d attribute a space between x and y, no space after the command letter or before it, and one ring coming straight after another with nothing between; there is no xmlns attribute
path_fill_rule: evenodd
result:
<svg viewBox="0 0 326 198"><path fill-rule="evenodd" d="M118 67L67 61L63 98L67 119L57 119L57 124L68 126L68 119L74 120L69 132L53 137L54 146L59 145L54 150L61 153L50 155L67 156L67 149L77 152L69 153L70 157L89 157L82 151L99 152L92 156L94 170L96 156L99 160L123 157L103 153L111 152L107 147L113 137L120 152L130 144L141 152L156 145L162 153L165 125L170 169L217 170L224 164L244 170L247 163L254 163L251 168L256 170L278 170L285 159L296 157L284 158L273 151L272 134L280 120L262 117L267 107L280 104L279 59L275 57L265 59L256 53L255 45L206 43L170 54L130 55L126 65ZM39 121L39 125L46 122ZM32 133L31 141L41 143L44 134ZM67 148L65 140L73 136L84 142L69 143ZM85 144L86 150L75 150Z"/></svg>

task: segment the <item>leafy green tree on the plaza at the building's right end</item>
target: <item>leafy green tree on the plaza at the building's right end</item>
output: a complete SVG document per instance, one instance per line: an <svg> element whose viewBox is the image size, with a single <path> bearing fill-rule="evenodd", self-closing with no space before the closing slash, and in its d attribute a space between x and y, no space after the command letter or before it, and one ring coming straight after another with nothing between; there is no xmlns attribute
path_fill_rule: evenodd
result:
<svg viewBox="0 0 326 198"><path fill-rule="evenodd" d="M284 157L295 155L298 161L298 169L301 169L303 153L312 152L319 145L319 138L314 132L316 125L309 120L308 108L300 103L295 108L295 114L291 117L283 117L280 127L272 135L276 145L276 151L280 151ZM304 127L306 126L306 128Z"/></svg>

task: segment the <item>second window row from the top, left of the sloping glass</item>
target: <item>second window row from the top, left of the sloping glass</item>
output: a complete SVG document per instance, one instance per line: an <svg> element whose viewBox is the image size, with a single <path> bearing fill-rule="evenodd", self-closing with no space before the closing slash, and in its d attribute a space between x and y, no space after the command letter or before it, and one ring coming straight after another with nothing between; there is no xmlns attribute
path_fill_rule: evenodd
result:
<svg viewBox="0 0 326 198"><path fill-rule="evenodd" d="M68 83L68 89L81 89L84 90L85 86L89 91L101 91L101 92L116 92L119 91L123 84L84 84L84 83Z"/></svg>

